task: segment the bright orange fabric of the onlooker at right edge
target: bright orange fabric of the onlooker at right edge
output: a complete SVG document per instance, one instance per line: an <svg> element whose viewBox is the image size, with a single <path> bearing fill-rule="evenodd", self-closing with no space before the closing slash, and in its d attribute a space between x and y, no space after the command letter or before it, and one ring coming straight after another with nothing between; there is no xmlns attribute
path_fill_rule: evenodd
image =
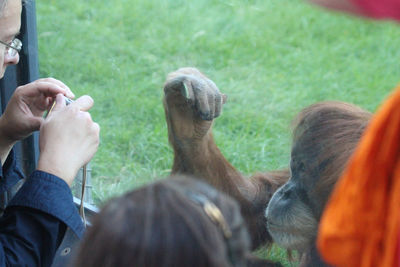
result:
<svg viewBox="0 0 400 267"><path fill-rule="evenodd" d="M373 117L321 219L317 246L334 266L398 266L400 86Z"/></svg>

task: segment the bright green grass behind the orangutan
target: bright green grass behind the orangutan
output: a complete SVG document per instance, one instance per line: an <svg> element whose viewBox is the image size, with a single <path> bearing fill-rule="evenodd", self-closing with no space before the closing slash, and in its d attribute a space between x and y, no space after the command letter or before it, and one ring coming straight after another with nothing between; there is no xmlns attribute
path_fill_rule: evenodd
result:
<svg viewBox="0 0 400 267"><path fill-rule="evenodd" d="M228 95L215 137L246 174L287 165L301 108L343 100L374 111L400 80L400 26L300 0L41 0L37 19L41 76L96 103L98 203L168 175L162 85L179 67Z"/></svg>

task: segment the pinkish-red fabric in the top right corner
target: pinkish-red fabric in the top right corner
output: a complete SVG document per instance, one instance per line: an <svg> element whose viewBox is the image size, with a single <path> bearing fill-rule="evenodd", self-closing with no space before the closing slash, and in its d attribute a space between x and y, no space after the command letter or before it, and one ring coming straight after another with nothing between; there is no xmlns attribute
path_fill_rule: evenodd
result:
<svg viewBox="0 0 400 267"><path fill-rule="evenodd" d="M400 0L352 0L366 16L400 22Z"/></svg>

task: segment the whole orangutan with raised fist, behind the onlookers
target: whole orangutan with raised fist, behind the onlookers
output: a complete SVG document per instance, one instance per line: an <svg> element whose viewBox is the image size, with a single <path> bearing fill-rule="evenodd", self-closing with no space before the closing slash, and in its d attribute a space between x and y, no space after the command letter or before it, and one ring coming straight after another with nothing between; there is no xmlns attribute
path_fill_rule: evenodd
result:
<svg viewBox="0 0 400 267"><path fill-rule="evenodd" d="M271 244L268 225L276 243L304 252L303 261L310 262L318 256L313 254L313 242L324 205L370 113L342 102L321 102L304 109L294 122L290 171L247 178L214 142L213 120L225 102L226 96L214 82L195 68L168 75L163 103L174 150L172 174L193 175L235 198L253 249Z"/></svg>

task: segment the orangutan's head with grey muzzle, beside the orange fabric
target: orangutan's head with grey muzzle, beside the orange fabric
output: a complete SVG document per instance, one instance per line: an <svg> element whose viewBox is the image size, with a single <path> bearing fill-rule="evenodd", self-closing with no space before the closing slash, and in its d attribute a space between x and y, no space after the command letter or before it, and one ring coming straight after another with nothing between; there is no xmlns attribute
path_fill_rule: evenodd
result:
<svg viewBox="0 0 400 267"><path fill-rule="evenodd" d="M314 245L318 223L370 118L357 106L327 101L294 121L291 177L272 197L267 220L274 241L303 253L301 266L325 266Z"/></svg>

